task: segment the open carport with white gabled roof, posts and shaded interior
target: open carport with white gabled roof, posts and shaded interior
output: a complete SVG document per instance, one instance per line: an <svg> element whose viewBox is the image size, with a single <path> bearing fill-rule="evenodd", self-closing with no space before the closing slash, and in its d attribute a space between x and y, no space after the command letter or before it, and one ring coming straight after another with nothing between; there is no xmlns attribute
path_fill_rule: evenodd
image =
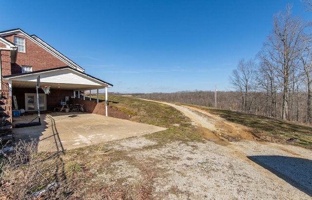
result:
<svg viewBox="0 0 312 200"><path fill-rule="evenodd" d="M16 102L12 102L13 109L25 109L26 112L38 111L35 106L38 84L40 111L53 111L57 105L69 104L72 99L91 101L91 95L86 97L84 93L91 94L92 90L96 90L94 93L97 93L97 102L99 102L99 90L105 89L105 100L107 101L107 89L113 87L112 84L68 66L7 75L3 76L3 81L8 84L10 96L13 95L17 99ZM41 90L41 87L44 86L49 87L48 94Z"/></svg>

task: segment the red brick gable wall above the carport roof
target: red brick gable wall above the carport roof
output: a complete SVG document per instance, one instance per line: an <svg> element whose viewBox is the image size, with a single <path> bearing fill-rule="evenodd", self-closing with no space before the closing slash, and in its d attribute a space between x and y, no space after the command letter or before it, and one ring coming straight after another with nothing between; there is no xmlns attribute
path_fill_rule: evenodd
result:
<svg viewBox="0 0 312 200"><path fill-rule="evenodd" d="M32 66L33 71L67 66L65 62L61 61L59 58L50 54L49 52L41 48L38 44L24 36L14 34L10 36L4 36L4 38L14 43L14 36L25 38L26 53L18 52L16 64L12 65L12 71L10 69L10 74L21 73L22 65Z"/></svg>

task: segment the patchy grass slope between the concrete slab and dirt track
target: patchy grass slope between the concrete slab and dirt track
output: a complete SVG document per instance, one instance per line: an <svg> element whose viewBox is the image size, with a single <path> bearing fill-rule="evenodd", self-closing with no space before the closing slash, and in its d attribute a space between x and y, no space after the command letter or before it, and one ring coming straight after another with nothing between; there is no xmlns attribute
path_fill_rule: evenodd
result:
<svg viewBox="0 0 312 200"><path fill-rule="evenodd" d="M109 101L110 106L132 113L131 121L168 128L147 137L158 138L163 142L202 139L190 119L171 106L124 96L109 96Z"/></svg>

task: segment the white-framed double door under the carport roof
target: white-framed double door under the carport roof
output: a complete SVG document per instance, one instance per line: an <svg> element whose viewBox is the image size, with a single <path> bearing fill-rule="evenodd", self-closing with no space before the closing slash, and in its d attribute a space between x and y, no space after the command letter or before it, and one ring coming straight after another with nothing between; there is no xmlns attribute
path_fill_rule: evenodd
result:
<svg viewBox="0 0 312 200"><path fill-rule="evenodd" d="M38 111L37 107L37 94L25 93L25 111ZM39 94L39 109L47 109L46 94Z"/></svg>

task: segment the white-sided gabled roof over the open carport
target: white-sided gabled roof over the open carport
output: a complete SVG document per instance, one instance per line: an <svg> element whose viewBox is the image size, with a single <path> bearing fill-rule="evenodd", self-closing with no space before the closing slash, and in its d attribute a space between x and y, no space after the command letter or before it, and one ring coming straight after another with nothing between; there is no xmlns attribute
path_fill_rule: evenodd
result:
<svg viewBox="0 0 312 200"><path fill-rule="evenodd" d="M40 85L49 85L53 90L84 91L113 87L110 83L79 72L69 66L7 75L3 76L3 81L11 83L13 88L36 88L39 75Z"/></svg>

